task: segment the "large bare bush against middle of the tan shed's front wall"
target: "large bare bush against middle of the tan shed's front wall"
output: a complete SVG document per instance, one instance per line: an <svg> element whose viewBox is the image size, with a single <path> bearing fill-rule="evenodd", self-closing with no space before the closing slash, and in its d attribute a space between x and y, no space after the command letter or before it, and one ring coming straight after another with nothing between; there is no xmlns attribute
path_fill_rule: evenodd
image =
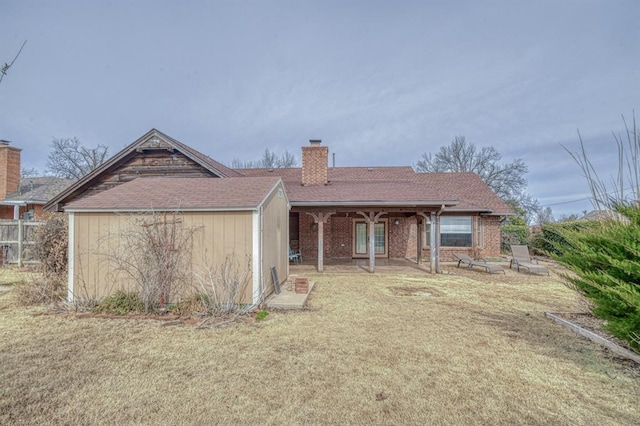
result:
<svg viewBox="0 0 640 426"><path fill-rule="evenodd" d="M113 250L101 255L135 285L145 313L162 308L191 282L193 235L180 213L131 215L120 232L109 235Z"/></svg>

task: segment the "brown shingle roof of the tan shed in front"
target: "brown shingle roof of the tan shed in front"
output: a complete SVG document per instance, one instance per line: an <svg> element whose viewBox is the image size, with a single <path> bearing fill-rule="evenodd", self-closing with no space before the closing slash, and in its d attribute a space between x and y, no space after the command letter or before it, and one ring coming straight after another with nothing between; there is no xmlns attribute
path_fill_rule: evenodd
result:
<svg viewBox="0 0 640 426"><path fill-rule="evenodd" d="M242 210L259 206L278 184L271 177L233 179L148 177L80 198L65 210Z"/></svg>

